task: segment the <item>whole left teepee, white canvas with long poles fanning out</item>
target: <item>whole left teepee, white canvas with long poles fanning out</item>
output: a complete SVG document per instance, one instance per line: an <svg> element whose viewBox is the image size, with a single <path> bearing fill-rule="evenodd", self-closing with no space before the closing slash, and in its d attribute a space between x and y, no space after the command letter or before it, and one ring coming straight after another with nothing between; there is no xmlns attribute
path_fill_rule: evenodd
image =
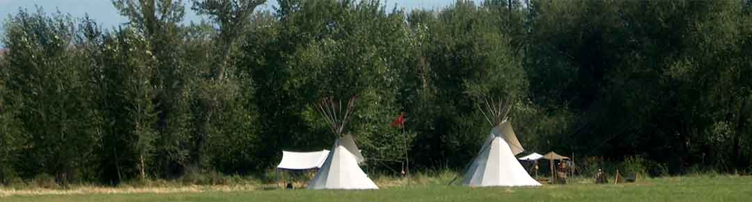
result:
<svg viewBox="0 0 752 202"><path fill-rule="evenodd" d="M308 189L378 189L378 186L365 175L358 166L365 161L358 146L350 134L342 135L347 117L353 111L355 98L350 99L346 110L332 98L324 99L319 104L324 120L339 137L332 146L332 152L326 157L321 168L308 182ZM339 115L339 116L337 116ZM341 119L338 119L341 117Z"/></svg>

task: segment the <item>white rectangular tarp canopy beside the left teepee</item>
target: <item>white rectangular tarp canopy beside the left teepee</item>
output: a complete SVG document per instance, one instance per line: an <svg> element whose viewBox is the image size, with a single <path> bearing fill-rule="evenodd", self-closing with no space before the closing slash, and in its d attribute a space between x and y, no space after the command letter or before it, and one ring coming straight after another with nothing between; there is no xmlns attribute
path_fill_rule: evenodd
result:
<svg viewBox="0 0 752 202"><path fill-rule="evenodd" d="M320 168L329 155L329 150L318 152L288 152L282 151L282 161L277 164L278 169L309 170Z"/></svg>

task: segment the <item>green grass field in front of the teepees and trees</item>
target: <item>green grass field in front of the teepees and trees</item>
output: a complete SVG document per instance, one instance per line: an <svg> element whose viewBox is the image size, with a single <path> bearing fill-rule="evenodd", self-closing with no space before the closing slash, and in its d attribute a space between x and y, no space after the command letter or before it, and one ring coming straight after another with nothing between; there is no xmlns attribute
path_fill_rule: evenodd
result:
<svg viewBox="0 0 752 202"><path fill-rule="evenodd" d="M0 201L752 201L750 176L670 177L618 185L580 181L535 188L467 188L428 182L368 191L188 189L160 194L11 194Z"/></svg>

